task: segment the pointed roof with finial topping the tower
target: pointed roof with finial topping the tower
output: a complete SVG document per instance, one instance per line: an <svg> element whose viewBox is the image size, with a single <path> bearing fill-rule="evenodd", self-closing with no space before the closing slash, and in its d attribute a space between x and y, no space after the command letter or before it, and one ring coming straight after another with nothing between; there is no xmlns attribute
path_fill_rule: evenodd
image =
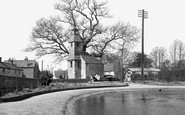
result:
<svg viewBox="0 0 185 115"><path fill-rule="evenodd" d="M77 28L74 28L72 29L73 31L73 35L72 37L68 40L68 42L82 42L82 40L80 39L79 35L78 35L78 29Z"/></svg>

